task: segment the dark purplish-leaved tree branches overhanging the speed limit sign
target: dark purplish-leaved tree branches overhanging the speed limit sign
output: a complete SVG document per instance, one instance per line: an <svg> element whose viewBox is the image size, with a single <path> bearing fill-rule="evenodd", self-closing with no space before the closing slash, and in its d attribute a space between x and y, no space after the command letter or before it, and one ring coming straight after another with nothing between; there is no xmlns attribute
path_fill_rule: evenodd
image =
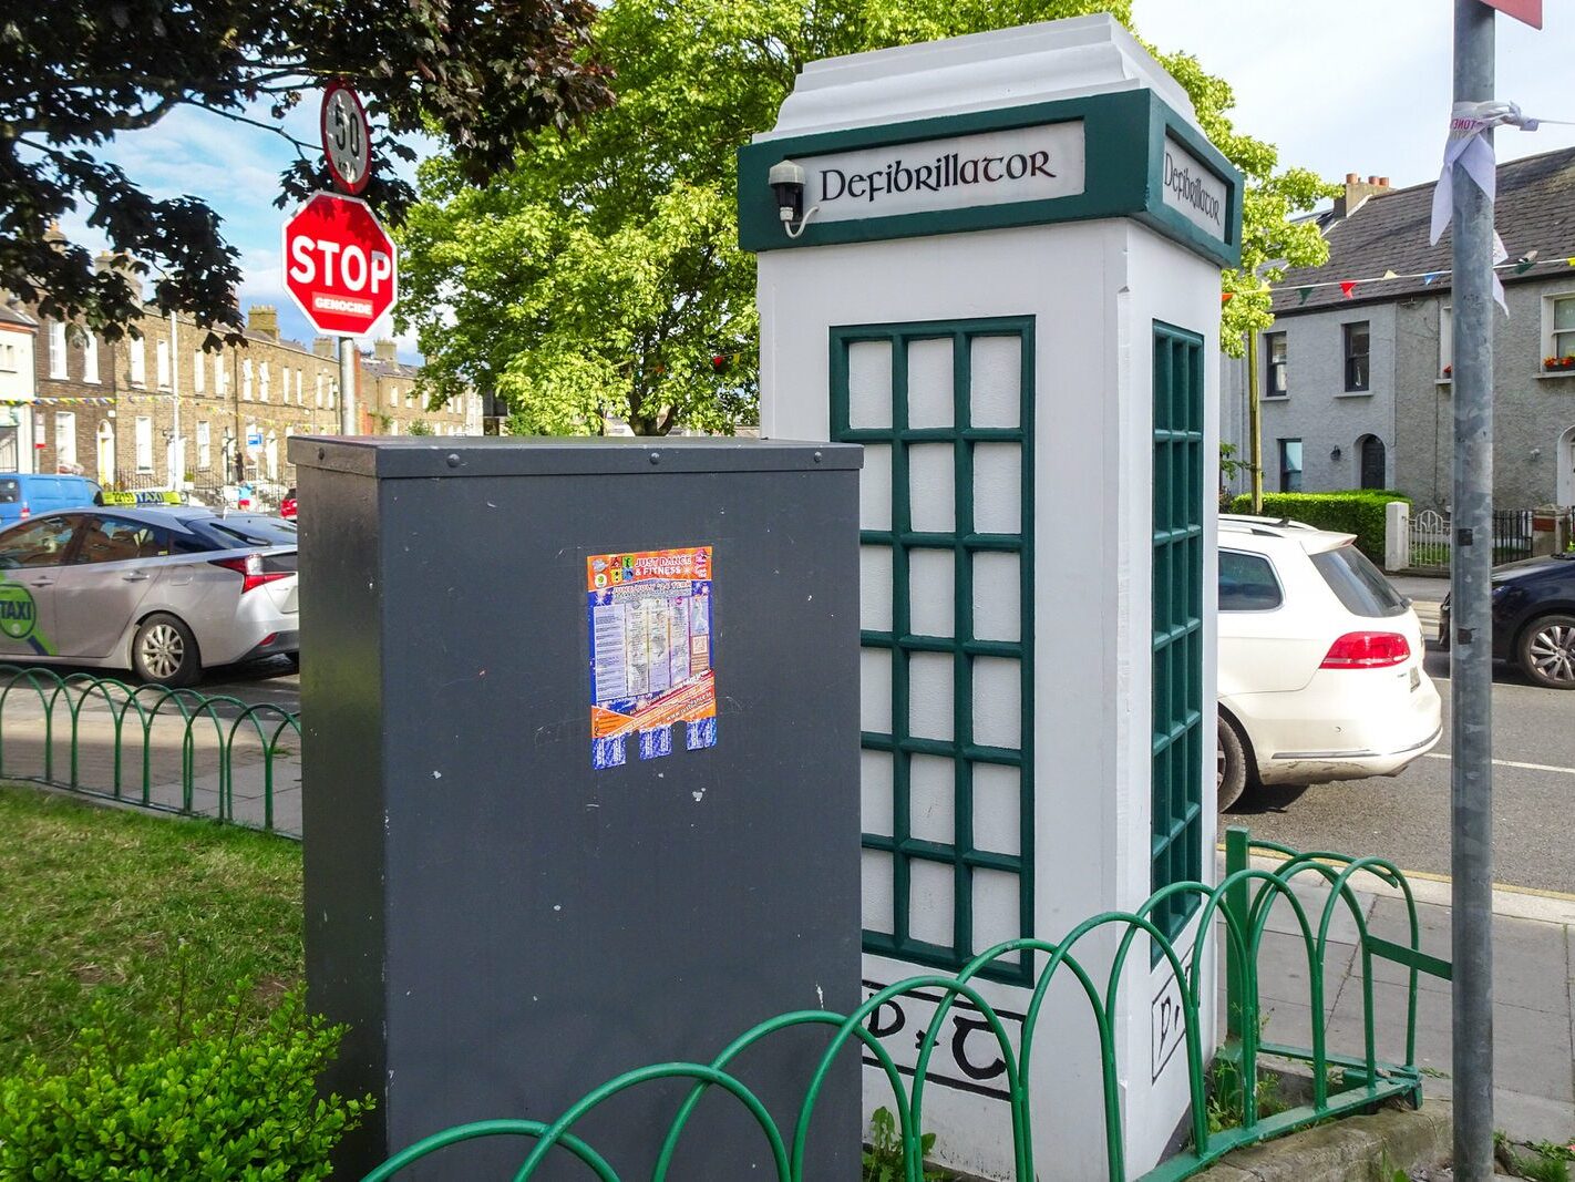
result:
<svg viewBox="0 0 1575 1182"><path fill-rule="evenodd" d="M436 134L457 177L482 184L542 128L562 129L611 99L587 54L592 0L44 0L0 16L0 288L50 317L118 337L140 312L124 269L94 273L83 247L49 235L77 202L146 274L161 310L239 326L238 254L192 195L158 200L99 158L120 132L200 107L271 131L299 158L279 205L326 188L315 143L285 115L302 91L350 80L373 121L373 151L413 159L400 136ZM367 199L397 222L414 199L375 177Z"/></svg>

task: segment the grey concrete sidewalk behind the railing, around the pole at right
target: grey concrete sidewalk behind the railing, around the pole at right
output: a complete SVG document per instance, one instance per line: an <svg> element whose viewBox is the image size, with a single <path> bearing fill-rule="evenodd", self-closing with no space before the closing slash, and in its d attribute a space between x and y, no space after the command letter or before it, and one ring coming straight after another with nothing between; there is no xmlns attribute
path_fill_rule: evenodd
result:
<svg viewBox="0 0 1575 1182"><path fill-rule="evenodd" d="M1273 870L1273 859L1254 867ZM1317 933L1328 889L1296 889ZM1449 958L1449 884L1408 879L1416 898L1422 952ZM1370 886L1369 886L1370 884ZM1405 901L1397 890L1367 878L1358 898L1367 931L1410 942ZM1575 900L1515 890L1493 895L1493 1121L1518 1141L1569 1144L1575 1136ZM1356 920L1340 906L1331 924L1325 958L1325 1031L1329 1051L1362 1054L1362 963ZM1372 996L1377 1054L1405 1061L1406 977L1402 966L1373 960ZM1310 1046L1307 955L1288 905L1268 922L1258 957L1258 994L1265 1037ZM1452 1087L1451 985L1419 974L1416 1064L1422 1092L1447 1098Z"/></svg>

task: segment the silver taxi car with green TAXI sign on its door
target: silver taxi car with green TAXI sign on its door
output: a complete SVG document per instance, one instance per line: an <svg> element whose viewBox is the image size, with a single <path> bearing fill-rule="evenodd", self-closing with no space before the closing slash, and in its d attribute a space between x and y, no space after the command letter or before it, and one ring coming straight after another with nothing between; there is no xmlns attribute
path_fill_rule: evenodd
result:
<svg viewBox="0 0 1575 1182"><path fill-rule="evenodd" d="M129 668L189 686L296 657L291 522L208 509L61 509L0 533L0 660Z"/></svg>

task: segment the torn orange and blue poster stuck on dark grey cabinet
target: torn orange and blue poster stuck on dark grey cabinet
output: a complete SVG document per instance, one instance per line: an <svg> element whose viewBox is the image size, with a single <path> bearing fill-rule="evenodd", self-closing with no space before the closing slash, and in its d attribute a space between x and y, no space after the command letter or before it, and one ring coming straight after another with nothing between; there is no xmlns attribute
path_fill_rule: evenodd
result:
<svg viewBox="0 0 1575 1182"><path fill-rule="evenodd" d="M717 745L709 545L586 559L591 627L591 766Z"/></svg>

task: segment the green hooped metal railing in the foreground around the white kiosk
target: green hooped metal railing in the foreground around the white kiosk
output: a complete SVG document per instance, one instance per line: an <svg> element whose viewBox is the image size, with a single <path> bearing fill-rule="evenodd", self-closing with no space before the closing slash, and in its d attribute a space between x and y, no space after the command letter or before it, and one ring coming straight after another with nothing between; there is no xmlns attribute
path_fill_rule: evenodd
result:
<svg viewBox="0 0 1575 1182"><path fill-rule="evenodd" d="M1266 851L1282 860L1274 870L1254 868L1251 851ZM1217 1162L1232 1149L1266 1141L1273 1136L1304 1128L1307 1125L1350 1113L1364 1111L1384 1100L1400 1100L1413 1106L1422 1102L1421 1072L1416 1067L1416 1007L1418 1007L1418 976L1422 972L1451 977L1447 961L1424 953L1419 947L1419 927L1416 901L1405 875L1392 864L1380 857L1350 857L1334 853L1296 853L1271 842L1254 842L1246 829L1232 829L1227 835L1225 878L1219 886L1208 887L1202 883L1173 883L1154 892L1136 913L1104 913L1084 920L1073 928L1060 942L1040 939L1011 939L975 957L967 968L956 976L918 976L890 985L873 994L852 1013L833 1013L828 1010L797 1010L751 1028L732 1043L729 1043L709 1064L699 1062L666 1062L610 1080L592 1089L562 1116L553 1122L498 1119L479 1121L474 1124L455 1125L439 1133L417 1141L408 1149L395 1154L381 1166L365 1176L364 1182L384 1182L392 1179L406 1166L430 1157L447 1146L460 1141L493 1136L518 1136L534 1141L524 1152L515 1182L529 1179L537 1166L553 1149L561 1149L583 1162L595 1177L603 1182L617 1182L617 1174L597 1154L597 1150L576 1138L575 1125L591 1110L605 1100L636 1087L652 1080L693 1080L695 1086L679 1106L666 1138L660 1147L652 1182L666 1179L669 1163L682 1138L684 1128L699 1103L704 1092L720 1087L737 1100L761 1128L761 1135L770 1149L772 1162L780 1182L802 1182L805 1144L810 1132L810 1121L814 1114L821 1087L832 1069L833 1061L850 1043L857 1042L862 1050L874 1057L891 1086L893 1105L898 1128L902 1139L904 1177L907 1182L921 1182L925 1176L923 1154L920 1149L923 1130L925 1076L931 1054L936 1048L942 1026L951 1005L961 998L967 1004L978 1007L994 1034L1000 1057L1005 1061L1008 1105L1011 1111L1013 1160L1014 1177L1019 1182L1032 1182L1038 1177L1043 1160L1036 1157L1032 1138L1030 1108L1030 1061L1036 1046L1036 1020L1044 1004L1052 979L1060 972L1071 972L1076 983L1082 987L1088 999L1093 1023L1099 1035L1099 1054L1102 1072L1104 1097L1104 1141L1109 1163L1109 1177L1125 1180L1128 1177L1125 1163L1125 1147L1121 1139L1121 1102L1120 1081L1117 1076L1115 1042L1112 1029L1112 1013L1117 1009L1121 979L1128 953L1142 938L1153 941L1158 958L1167 961L1181 985L1183 1020L1186 1024L1186 1070L1191 1092L1191 1141L1175 1157L1166 1160L1158 1168L1143 1174L1143 1182L1173 1182L1191 1177L1205 1166ZM1405 900L1410 919L1410 939L1406 944L1380 939L1367 930L1362 908L1351 887L1353 879L1372 876L1391 889L1397 889ZM1298 878L1310 876L1321 879L1329 887L1328 898L1317 919L1310 919L1303 900L1292 890ZM1213 941L1197 939L1191 950L1191 965L1183 963L1183 957L1166 938L1164 931L1150 919L1151 914L1164 914L1166 905L1178 895L1191 894L1200 900L1200 931L1206 925L1219 922L1225 936L1227 957L1227 1032L1225 1042L1214 1056L1213 1075L1216 1086L1225 1081L1235 1097L1235 1110L1241 1114L1240 1125L1210 1130L1205 1048L1202 1045L1202 1028L1199 1023L1200 1005L1211 1004L1211 996L1200 996L1200 980L1205 957L1213 955ZM1296 930L1303 938L1307 953L1309 1009L1312 1013L1312 1045L1288 1046L1269 1043L1260 1037L1258 1009L1258 974L1257 958L1263 944L1271 908L1284 900L1295 919ZM1326 1045L1325 991L1323 991L1323 960L1329 944L1329 928L1340 909L1350 911L1356 924L1358 942L1362 966L1362 1021L1364 1042L1359 1053L1339 1054ZM1109 974L1101 990L1093 974L1077 961L1073 950L1093 931L1104 928L1121 930L1120 946L1110 963ZM975 988L978 977L991 961L1027 950L1038 961L1032 1001L1022 1021L1019 1045L1013 1046L1005 1026L995 1009ZM1405 1062L1384 1062L1377 1056L1377 1037L1373 1026L1373 960L1389 960L1408 969L1408 1002L1405 1029ZM1147 968L1147 963L1145 963ZM902 1084L902 1076L887 1050L869 1029L869 1015L884 1002L909 994L917 990L940 990L942 1001L936 1007L934 1018L920 1045L918 1061L914 1070L912 1091ZM791 1026L824 1024L832 1028L832 1039L821 1057L817 1069L808 1081L805 1100L800 1106L797 1122L791 1135L784 1135L761 1100L737 1076L729 1073L732 1061L747 1048L759 1043L776 1031ZM1307 1064L1312 1073L1312 1098L1309 1103L1290 1108L1288 1111L1265 1114L1258 1105L1258 1078L1265 1070L1260 1059L1273 1056L1293 1062ZM1331 1081L1331 1073L1337 1072L1339 1080ZM1217 1111L1217 1110L1216 1110Z"/></svg>

